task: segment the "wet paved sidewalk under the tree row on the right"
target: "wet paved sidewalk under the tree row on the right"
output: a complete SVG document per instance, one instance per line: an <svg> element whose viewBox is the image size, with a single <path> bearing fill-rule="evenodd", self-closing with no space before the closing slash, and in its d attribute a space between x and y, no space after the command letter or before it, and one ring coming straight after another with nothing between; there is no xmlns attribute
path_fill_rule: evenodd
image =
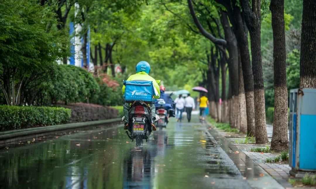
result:
<svg viewBox="0 0 316 189"><path fill-rule="evenodd" d="M210 123L208 123L211 125ZM245 153L247 157L253 160L256 164L258 164L262 169L264 169L269 175L271 175L278 183L280 183L284 188L294 188L289 183L289 178L293 178L293 176L289 175L289 171L291 168L288 164L281 163L265 163L266 158L274 158L279 155L279 153L262 153L262 152L250 152L251 148L255 147L265 147L270 146L270 144L266 145L256 145L256 144L237 144L236 140L241 140L241 138L245 137L245 135L240 134L231 134L228 132L224 132L222 130L217 129L216 127L211 126L212 130L215 130L218 134L224 136L229 142L231 142L235 147L237 147L241 152ZM267 133L269 142L272 138L272 130L273 126L267 124ZM295 187L297 188L297 187Z"/></svg>

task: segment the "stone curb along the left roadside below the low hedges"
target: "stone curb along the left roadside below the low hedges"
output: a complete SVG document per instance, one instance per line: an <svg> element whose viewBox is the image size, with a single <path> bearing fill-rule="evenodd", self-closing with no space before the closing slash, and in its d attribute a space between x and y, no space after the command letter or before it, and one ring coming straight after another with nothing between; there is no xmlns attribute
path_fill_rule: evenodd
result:
<svg viewBox="0 0 316 189"><path fill-rule="evenodd" d="M61 125L52 125L52 126L4 131L4 132L0 132L0 141L27 136L27 135L36 135L36 134L42 134L42 133L47 133L47 132L62 131L62 130L67 130L67 129L76 129L76 128L81 128L81 127L95 126L95 125L102 125L102 124L109 124L109 123L119 123L120 121L121 121L120 118L113 118L113 119L106 119L106 120L88 121L88 122L80 122L80 123L68 123L68 124L61 124Z"/></svg>

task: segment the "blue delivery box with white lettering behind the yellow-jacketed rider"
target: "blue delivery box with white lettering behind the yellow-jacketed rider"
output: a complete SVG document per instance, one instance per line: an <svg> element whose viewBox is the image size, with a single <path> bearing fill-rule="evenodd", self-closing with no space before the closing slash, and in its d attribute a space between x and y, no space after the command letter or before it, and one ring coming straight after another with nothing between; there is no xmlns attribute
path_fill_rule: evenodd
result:
<svg viewBox="0 0 316 189"><path fill-rule="evenodd" d="M142 100L147 103L154 102L154 85L152 81L123 81L125 93L123 95L126 102Z"/></svg>

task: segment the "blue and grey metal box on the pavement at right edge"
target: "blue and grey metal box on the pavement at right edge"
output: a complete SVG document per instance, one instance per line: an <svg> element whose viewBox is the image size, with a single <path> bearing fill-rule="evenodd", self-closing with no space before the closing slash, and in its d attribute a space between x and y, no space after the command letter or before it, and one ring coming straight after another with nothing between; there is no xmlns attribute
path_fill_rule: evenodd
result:
<svg viewBox="0 0 316 189"><path fill-rule="evenodd" d="M289 165L297 176L316 171L316 89L291 89L289 105Z"/></svg>

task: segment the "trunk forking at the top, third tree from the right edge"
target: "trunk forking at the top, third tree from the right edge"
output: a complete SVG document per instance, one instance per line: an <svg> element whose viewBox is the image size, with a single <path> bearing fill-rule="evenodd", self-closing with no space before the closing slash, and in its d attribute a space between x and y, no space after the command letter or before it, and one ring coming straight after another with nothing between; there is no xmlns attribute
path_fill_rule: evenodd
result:
<svg viewBox="0 0 316 189"><path fill-rule="evenodd" d="M264 144L268 143L268 135L265 123L264 82L261 60L261 2L260 0L253 0L252 8L250 7L249 0L240 0L240 3L250 33L252 74L254 81L256 143Z"/></svg>

